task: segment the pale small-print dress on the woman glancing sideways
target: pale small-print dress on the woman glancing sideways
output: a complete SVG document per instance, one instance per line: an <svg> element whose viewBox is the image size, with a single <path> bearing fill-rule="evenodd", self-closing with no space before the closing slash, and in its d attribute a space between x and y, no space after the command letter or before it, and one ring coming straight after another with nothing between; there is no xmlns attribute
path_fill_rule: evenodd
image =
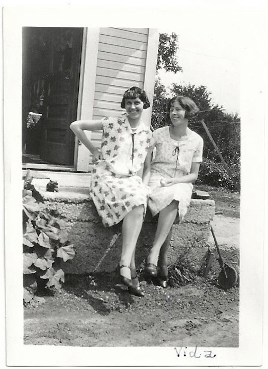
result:
<svg viewBox="0 0 268 369"><path fill-rule="evenodd" d="M152 216L158 214L173 200L179 201L178 213L183 220L190 205L193 184L177 183L161 187L161 179L179 178L190 173L192 162L202 161L203 140L196 132L188 128L185 140L175 141L170 137L169 127L163 127L153 132L152 146L156 154L151 164L149 187L151 195L148 207Z"/></svg>

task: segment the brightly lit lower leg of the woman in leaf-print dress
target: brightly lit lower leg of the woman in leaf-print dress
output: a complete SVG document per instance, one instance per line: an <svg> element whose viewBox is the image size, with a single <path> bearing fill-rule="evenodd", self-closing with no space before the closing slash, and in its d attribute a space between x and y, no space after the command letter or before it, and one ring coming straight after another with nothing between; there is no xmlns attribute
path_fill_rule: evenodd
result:
<svg viewBox="0 0 268 369"><path fill-rule="evenodd" d="M124 218L122 225L123 244L120 265L126 265L129 267L133 265L135 247L143 222L143 212L144 207L143 205L140 205L134 208ZM129 279L132 277L131 270L129 268L121 268L121 274Z"/></svg>

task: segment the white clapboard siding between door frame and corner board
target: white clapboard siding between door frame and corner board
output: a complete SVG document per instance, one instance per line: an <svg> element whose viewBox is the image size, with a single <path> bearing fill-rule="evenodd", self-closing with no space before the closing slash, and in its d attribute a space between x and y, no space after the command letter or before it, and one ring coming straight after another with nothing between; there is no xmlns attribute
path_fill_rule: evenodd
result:
<svg viewBox="0 0 268 369"><path fill-rule="evenodd" d="M125 111L120 104L126 89L143 88L147 44L147 28L100 28L93 119L118 117ZM98 148L101 138L102 131L91 133Z"/></svg>

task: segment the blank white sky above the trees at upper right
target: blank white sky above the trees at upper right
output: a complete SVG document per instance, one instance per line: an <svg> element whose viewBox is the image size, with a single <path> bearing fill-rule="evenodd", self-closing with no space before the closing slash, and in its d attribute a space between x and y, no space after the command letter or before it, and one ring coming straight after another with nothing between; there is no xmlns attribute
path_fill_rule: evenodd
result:
<svg viewBox="0 0 268 369"><path fill-rule="evenodd" d="M183 72L160 71L164 85L171 83L205 85L211 92L212 103L222 105L228 113L240 113L240 55L243 45L237 16L222 17L193 15L180 18L161 33L178 35L177 52Z"/></svg>

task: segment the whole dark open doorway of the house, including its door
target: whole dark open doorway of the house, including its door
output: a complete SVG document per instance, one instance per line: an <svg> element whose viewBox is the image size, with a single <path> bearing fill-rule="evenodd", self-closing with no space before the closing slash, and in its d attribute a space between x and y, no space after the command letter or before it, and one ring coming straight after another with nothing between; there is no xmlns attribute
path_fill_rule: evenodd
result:
<svg viewBox="0 0 268 369"><path fill-rule="evenodd" d="M83 28L23 28L24 164L73 166L82 37Z"/></svg>

